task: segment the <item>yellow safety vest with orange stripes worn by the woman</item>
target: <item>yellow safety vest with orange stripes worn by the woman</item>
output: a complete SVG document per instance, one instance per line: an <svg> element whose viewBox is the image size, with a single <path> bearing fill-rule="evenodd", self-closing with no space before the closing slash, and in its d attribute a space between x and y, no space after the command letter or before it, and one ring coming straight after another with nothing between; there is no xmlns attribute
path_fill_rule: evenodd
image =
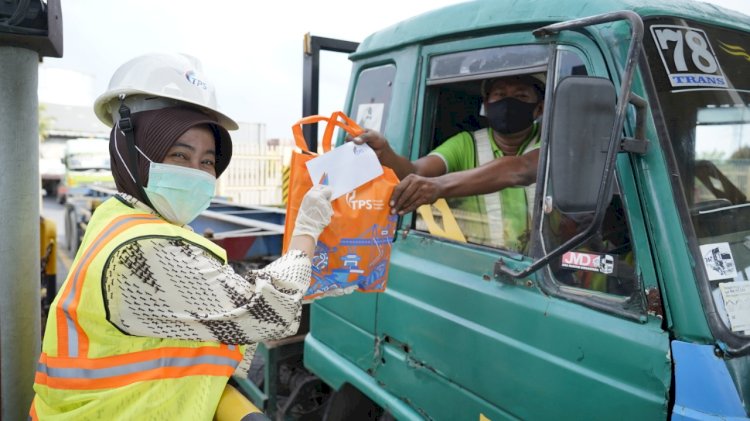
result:
<svg viewBox="0 0 750 421"><path fill-rule="evenodd" d="M244 347L131 336L107 320L102 274L118 247L142 237L182 238L226 262L202 236L133 209L99 206L50 309L32 419L210 420Z"/></svg>

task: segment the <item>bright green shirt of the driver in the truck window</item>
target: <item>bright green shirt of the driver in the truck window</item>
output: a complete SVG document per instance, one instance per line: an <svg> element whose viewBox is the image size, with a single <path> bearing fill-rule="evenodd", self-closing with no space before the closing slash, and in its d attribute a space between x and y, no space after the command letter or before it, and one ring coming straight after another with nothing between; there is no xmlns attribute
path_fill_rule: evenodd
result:
<svg viewBox="0 0 750 421"><path fill-rule="evenodd" d="M495 158L504 156L503 151L493 141L491 129L489 131L490 146ZM534 123L529 137L524 140L516 155L522 155L539 146L539 125ZM447 172L470 170L477 167L477 153L474 138L469 132L460 132L449 138L443 144L435 148L430 155L436 155L445 162ZM526 206L526 191L523 187L509 187L498 192L502 207L503 231L505 244L508 248L521 250L523 241L519 240L529 228L528 209ZM486 227L484 200L481 196L469 196L449 200L451 208L457 210L457 220L463 220L461 224L469 241L480 244L495 245L500 243L499 239L488 238ZM461 215L463 214L463 215Z"/></svg>

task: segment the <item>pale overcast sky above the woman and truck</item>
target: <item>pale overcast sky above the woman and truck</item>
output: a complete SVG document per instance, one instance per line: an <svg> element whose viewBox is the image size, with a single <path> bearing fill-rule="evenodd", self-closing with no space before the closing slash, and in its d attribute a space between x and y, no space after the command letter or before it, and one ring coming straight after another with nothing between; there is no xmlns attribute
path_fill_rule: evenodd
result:
<svg viewBox="0 0 750 421"><path fill-rule="evenodd" d="M750 0L703 1L750 15ZM186 53L203 62L222 111L237 121L264 123L268 138L291 138L290 125L302 114L305 33L360 42L401 20L459 2L62 0L64 56L45 58L43 67L79 72L92 83L58 80L50 86L40 80L40 97L91 105L130 58ZM323 53L321 114L343 108L350 70L344 54Z"/></svg>

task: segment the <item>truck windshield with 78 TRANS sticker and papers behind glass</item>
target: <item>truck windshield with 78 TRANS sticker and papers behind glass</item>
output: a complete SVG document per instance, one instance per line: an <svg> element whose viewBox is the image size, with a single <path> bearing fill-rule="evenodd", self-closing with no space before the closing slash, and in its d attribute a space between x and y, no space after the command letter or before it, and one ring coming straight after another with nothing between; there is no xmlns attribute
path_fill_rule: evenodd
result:
<svg viewBox="0 0 750 421"><path fill-rule="evenodd" d="M750 335L750 34L684 19L647 25L696 270L726 328Z"/></svg>

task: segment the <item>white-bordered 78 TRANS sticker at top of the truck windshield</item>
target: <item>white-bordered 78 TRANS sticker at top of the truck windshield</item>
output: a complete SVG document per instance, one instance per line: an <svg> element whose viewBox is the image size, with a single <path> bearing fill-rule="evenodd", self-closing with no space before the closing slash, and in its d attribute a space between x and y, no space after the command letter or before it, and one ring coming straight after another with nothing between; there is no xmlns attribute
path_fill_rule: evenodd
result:
<svg viewBox="0 0 750 421"><path fill-rule="evenodd" d="M689 26L653 25L651 35L672 87L729 87L704 31Z"/></svg>

